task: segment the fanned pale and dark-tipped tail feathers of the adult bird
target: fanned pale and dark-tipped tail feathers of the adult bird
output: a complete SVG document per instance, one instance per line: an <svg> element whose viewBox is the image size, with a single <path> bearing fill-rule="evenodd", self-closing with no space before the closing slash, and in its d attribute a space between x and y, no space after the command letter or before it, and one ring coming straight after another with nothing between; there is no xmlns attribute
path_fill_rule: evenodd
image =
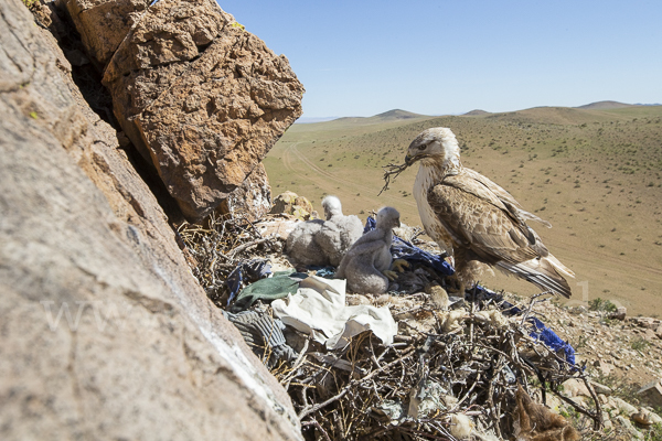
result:
<svg viewBox="0 0 662 441"><path fill-rule="evenodd" d="M549 259L552 257L552 259ZM511 276L524 279L543 290L554 291L567 299L573 295L570 286L559 273L574 277L573 271L558 261L554 256L548 255L541 259L531 259L520 263L509 263L500 261L498 267ZM560 267L560 268L559 268ZM558 269L558 270L557 270Z"/></svg>

